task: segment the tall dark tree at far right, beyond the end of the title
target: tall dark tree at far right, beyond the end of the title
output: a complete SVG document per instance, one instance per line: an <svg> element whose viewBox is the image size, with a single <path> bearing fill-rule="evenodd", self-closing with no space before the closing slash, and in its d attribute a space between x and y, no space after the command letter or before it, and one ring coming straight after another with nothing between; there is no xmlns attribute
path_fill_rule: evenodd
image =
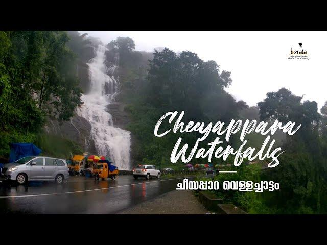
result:
<svg viewBox="0 0 327 245"><path fill-rule="evenodd" d="M264 179L274 180L283 188L269 193L266 205L278 213L321 213L327 209L321 204L327 201L326 138L319 133L321 115L315 101L301 102L302 97L285 88L267 93L258 103L262 120L295 122L301 128L287 137L279 157L281 164L268 171ZM287 202L285 199L287 198Z"/></svg>

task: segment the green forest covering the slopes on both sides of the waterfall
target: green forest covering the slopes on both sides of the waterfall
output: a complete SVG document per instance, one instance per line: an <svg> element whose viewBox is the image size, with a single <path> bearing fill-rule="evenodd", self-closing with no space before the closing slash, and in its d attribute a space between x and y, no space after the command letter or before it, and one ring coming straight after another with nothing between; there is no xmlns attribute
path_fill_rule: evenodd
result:
<svg viewBox="0 0 327 245"><path fill-rule="evenodd" d="M47 120L69 121L87 92L76 66L92 58L90 45L100 41L76 31L1 31L0 32L0 157L8 158L9 142L33 142L43 154L69 157L80 154L83 145L44 131ZM230 71L221 70L215 61L204 61L196 53L176 53L169 48L153 53L135 51L129 37L118 37L106 44L107 59L119 54L122 93L118 101L129 116L126 129L132 135L134 163L159 167L182 167L170 163L178 137L194 144L196 133L153 134L157 120L169 111L185 111L184 122L227 122L231 119L275 119L301 124L293 136L278 138L286 151L277 167L262 170L259 165L238 167L235 175L218 175L216 180L273 180L281 189L274 192L214 192L249 213L327 213L327 103L318 108L315 101L303 101L292 91L271 91L258 106L249 107L225 91L232 84ZM170 127L167 123L165 127ZM278 134L277 134L278 135ZM278 137L278 136L276 136ZM209 136L201 142L212 142ZM261 136L249 135L253 147L262 144ZM240 142L232 137L229 144ZM214 159L215 164L232 164ZM196 163L207 163L196 159Z"/></svg>

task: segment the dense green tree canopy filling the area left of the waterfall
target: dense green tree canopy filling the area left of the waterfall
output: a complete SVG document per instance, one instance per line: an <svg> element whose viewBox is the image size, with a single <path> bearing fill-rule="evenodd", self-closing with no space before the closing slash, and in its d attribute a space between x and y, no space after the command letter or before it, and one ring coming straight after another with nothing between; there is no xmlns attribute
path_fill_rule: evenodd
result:
<svg viewBox="0 0 327 245"><path fill-rule="evenodd" d="M81 90L68 41L64 31L0 32L1 134L36 133L46 116L73 116Z"/></svg>

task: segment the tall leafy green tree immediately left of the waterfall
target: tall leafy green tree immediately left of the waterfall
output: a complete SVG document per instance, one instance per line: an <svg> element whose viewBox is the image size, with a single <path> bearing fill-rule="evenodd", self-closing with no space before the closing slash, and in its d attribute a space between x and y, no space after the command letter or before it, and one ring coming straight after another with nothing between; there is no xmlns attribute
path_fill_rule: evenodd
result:
<svg viewBox="0 0 327 245"><path fill-rule="evenodd" d="M65 32L46 33L45 53L41 60L42 68L33 86L39 96L38 106L48 115L59 121L73 116L74 109L81 104L81 89L75 74L75 56L66 46L68 36Z"/></svg>

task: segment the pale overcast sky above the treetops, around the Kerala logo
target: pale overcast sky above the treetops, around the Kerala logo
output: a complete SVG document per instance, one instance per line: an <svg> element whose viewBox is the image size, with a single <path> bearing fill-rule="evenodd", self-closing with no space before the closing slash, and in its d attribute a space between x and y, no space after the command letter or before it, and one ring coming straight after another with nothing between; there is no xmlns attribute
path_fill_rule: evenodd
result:
<svg viewBox="0 0 327 245"><path fill-rule="evenodd" d="M214 60L231 71L227 89L237 100L253 106L270 91L286 87L303 100L314 100L318 110L327 100L327 32L317 31L80 31L99 37L105 44L129 36L135 50L168 47L192 51L204 61ZM303 50L309 60L289 60L292 50Z"/></svg>

